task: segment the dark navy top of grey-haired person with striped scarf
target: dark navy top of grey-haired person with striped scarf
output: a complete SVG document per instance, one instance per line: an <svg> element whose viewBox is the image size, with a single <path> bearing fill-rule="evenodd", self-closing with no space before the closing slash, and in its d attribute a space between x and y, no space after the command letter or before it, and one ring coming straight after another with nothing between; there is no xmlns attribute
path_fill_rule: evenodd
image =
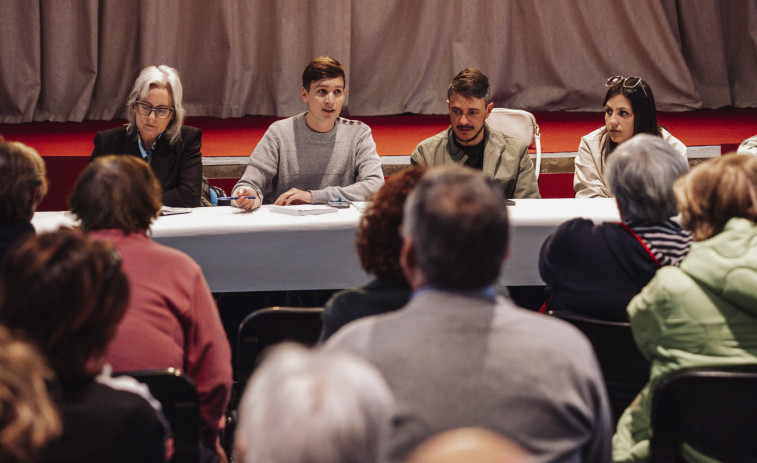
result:
<svg viewBox="0 0 757 463"><path fill-rule="evenodd" d="M539 273L552 290L550 308L628 321L626 306L660 265L620 223L573 219L544 242Z"/></svg>

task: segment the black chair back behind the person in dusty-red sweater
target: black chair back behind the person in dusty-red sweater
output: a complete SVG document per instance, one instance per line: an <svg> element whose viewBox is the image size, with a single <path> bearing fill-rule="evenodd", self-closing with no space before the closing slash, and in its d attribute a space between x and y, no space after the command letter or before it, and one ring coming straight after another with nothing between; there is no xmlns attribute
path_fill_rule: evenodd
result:
<svg viewBox="0 0 757 463"><path fill-rule="evenodd" d="M174 438L172 463L200 461L200 403L194 382L175 368L123 371L150 388L160 402Z"/></svg>

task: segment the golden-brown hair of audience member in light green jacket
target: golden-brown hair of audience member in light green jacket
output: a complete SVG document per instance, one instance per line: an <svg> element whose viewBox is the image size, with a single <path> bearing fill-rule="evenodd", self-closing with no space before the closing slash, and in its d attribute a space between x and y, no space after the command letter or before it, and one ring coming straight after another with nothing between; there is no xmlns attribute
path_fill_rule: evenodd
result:
<svg viewBox="0 0 757 463"><path fill-rule="evenodd" d="M674 186L683 226L702 241L733 217L757 222L757 158L728 154L705 161Z"/></svg>

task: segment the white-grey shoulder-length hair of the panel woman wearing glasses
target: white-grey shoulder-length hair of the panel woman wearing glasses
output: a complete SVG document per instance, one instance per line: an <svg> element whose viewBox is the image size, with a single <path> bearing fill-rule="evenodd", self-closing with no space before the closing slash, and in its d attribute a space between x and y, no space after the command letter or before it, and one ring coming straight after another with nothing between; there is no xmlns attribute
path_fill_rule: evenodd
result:
<svg viewBox="0 0 757 463"><path fill-rule="evenodd" d="M147 66L134 81L134 88L131 89L129 98L126 100L126 118L129 121L126 129L129 133L136 130L134 103L145 98L152 88L165 88L173 98L174 118L168 123L166 136L171 144L176 143L181 137L181 124L184 122L184 106L181 104L183 92L179 73L165 64Z"/></svg>

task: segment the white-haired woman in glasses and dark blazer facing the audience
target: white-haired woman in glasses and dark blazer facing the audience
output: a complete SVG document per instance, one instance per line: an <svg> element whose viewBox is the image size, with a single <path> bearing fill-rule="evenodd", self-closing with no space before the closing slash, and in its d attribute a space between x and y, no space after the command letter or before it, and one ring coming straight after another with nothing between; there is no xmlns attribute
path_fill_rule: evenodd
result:
<svg viewBox="0 0 757 463"><path fill-rule="evenodd" d="M166 206L197 207L202 190L202 131L182 125L181 80L176 69L148 66L126 102L128 124L98 132L90 161L129 155L150 164Z"/></svg>

